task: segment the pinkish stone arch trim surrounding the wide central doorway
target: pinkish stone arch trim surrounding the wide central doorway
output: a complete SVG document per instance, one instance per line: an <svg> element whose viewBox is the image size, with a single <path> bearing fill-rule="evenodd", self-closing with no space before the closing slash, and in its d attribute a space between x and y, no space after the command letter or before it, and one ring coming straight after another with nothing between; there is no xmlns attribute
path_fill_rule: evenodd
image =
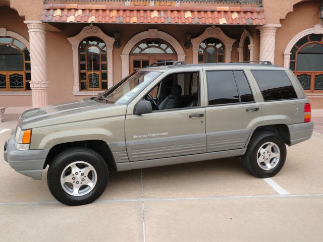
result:
<svg viewBox="0 0 323 242"><path fill-rule="evenodd" d="M177 61L185 61L185 52L181 44L170 34L157 29L148 29L139 34L133 36L125 45L122 54L121 54L121 70L122 78L125 78L129 75L129 54L132 48L138 44L140 41L149 38L158 38L163 39L170 43L177 54Z"/></svg>

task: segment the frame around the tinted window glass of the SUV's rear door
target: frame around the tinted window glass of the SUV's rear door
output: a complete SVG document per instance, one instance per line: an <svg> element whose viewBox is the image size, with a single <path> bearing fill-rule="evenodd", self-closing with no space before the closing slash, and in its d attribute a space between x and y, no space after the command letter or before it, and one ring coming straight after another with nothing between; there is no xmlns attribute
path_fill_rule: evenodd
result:
<svg viewBox="0 0 323 242"><path fill-rule="evenodd" d="M239 85L237 83L237 79L236 79L236 76L234 75L234 72L235 71L242 71L246 80L247 80L247 83L248 83L248 86L250 88L250 91L251 91L251 94L252 94L252 97L253 97L253 101L250 101L250 102L241 102L241 96L240 96L240 91L239 91ZM233 72L233 76L234 76L234 80L235 80L235 83L236 83L236 87L237 87L237 92L238 92L238 96L239 96L239 102L233 102L233 103L225 103L225 104L212 104L212 105L209 105L209 97L208 97L208 83L207 83L207 72ZM250 81L248 79L248 76L246 75L246 72L245 70L243 69L232 69L232 70L220 70L220 69L216 69L216 70L205 70L205 85L206 85L206 96L207 98L205 99L207 101L207 105L205 105L205 107L216 107L216 106L228 106L228 105L241 105L241 104L248 104L248 103L255 103L256 102L256 99L255 99L255 95L252 91L252 88L251 88L251 85L250 85Z"/></svg>

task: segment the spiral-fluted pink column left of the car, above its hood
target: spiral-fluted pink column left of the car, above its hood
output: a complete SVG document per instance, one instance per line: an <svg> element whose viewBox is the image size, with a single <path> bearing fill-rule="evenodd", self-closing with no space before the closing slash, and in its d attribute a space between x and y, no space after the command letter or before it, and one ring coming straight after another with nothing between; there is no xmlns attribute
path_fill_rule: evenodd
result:
<svg viewBox="0 0 323 242"><path fill-rule="evenodd" d="M41 21L24 21L27 24L30 44L31 95L32 106L41 107L48 104L46 78L46 26Z"/></svg>

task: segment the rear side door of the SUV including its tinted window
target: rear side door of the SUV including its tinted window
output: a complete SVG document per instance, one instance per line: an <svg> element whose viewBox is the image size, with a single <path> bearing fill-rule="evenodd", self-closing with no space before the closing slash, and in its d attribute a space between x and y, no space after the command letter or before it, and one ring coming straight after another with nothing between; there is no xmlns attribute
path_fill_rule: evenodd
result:
<svg viewBox="0 0 323 242"><path fill-rule="evenodd" d="M253 85L242 69L209 69L204 75L207 152L244 148L263 120Z"/></svg>

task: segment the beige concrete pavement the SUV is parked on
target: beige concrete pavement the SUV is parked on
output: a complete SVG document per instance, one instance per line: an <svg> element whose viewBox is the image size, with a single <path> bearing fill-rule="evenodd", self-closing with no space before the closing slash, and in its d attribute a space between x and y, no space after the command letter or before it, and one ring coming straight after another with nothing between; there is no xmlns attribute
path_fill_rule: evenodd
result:
<svg viewBox="0 0 323 242"><path fill-rule="evenodd" d="M114 172L79 207L53 199L46 171L23 176L0 152L0 241L323 241L322 148L317 133L288 147L272 179L237 158Z"/></svg>

